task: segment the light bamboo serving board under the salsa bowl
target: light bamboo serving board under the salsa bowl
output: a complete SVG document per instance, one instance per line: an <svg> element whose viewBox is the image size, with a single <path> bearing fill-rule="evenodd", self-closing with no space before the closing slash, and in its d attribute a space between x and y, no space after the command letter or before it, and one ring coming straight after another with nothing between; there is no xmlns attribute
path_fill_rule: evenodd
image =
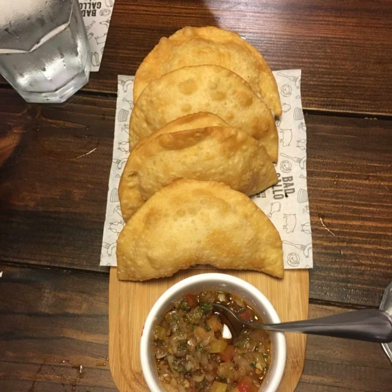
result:
<svg viewBox="0 0 392 392"><path fill-rule="evenodd" d="M147 315L161 294L181 279L212 270L182 270L171 278L145 282L118 281L116 267L109 282L109 364L120 392L148 392L140 366L140 336ZM215 272L215 271L214 271ZM219 270L260 289L274 305L281 321L308 317L309 272L286 270L283 279L254 271ZM306 335L286 334L287 362L279 392L293 392L305 361Z"/></svg>

